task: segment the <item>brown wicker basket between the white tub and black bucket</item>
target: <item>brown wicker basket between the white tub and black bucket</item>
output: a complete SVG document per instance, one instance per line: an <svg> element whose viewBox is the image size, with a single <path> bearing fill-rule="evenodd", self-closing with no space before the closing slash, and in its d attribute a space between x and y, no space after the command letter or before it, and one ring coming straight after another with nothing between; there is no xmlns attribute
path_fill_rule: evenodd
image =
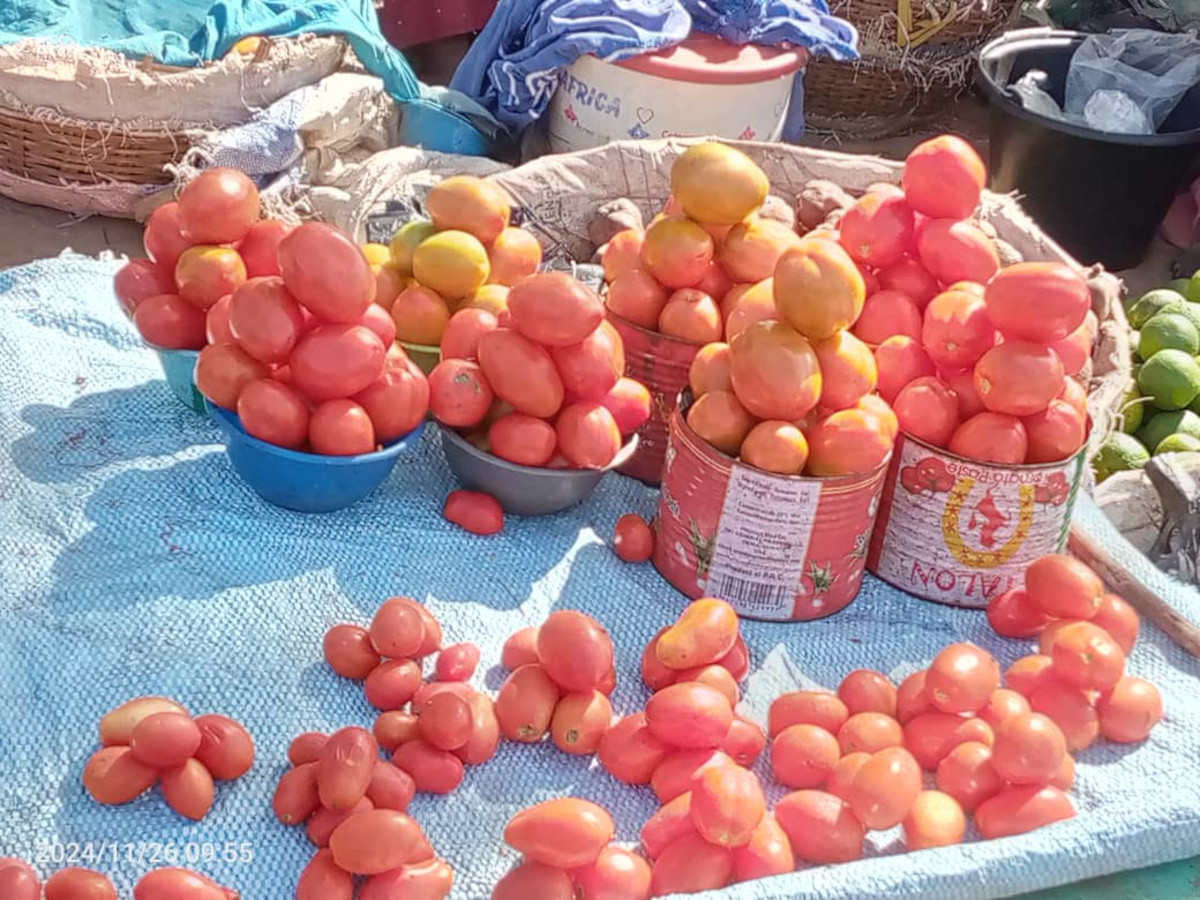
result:
<svg viewBox="0 0 1200 900"><path fill-rule="evenodd" d="M918 130L966 88L976 50L1001 31L1016 0L841 0L833 12L859 31L857 62L814 60L804 118L816 131L880 138Z"/></svg>

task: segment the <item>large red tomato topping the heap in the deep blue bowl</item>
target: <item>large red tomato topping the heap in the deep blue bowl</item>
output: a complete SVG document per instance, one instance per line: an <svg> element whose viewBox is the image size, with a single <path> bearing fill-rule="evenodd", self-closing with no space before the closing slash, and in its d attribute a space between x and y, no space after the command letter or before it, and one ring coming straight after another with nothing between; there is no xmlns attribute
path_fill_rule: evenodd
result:
<svg viewBox="0 0 1200 900"><path fill-rule="evenodd" d="M305 222L280 244L278 258L288 290L322 319L356 322L374 299L370 263L334 226Z"/></svg>

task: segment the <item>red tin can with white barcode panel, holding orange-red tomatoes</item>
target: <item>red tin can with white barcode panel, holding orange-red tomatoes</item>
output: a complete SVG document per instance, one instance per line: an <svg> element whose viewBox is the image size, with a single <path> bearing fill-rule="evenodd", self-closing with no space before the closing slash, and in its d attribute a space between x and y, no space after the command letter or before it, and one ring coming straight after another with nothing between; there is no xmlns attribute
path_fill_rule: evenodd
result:
<svg viewBox="0 0 1200 900"><path fill-rule="evenodd" d="M726 456L671 413L654 565L690 598L751 619L832 616L858 595L887 462L863 475L775 475Z"/></svg>

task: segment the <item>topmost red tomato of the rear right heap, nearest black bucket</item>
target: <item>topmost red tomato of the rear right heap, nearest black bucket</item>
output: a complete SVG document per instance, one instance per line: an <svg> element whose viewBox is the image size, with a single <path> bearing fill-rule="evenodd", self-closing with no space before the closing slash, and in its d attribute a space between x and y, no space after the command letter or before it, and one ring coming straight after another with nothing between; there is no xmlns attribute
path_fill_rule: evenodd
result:
<svg viewBox="0 0 1200 900"><path fill-rule="evenodd" d="M908 154L900 182L905 198L917 212L960 220L979 205L988 168L966 140L955 134L941 134Z"/></svg>

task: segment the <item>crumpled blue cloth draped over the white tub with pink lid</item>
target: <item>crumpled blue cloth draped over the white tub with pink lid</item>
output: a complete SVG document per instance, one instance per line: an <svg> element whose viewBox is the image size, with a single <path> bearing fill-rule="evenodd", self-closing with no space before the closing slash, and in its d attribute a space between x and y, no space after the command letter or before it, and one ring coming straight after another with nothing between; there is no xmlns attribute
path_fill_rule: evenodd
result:
<svg viewBox="0 0 1200 900"><path fill-rule="evenodd" d="M826 0L500 0L450 85L516 133L541 116L559 72L580 56L623 60L674 46L692 30L734 44L791 44L839 60L858 55L854 28L830 16ZM802 80L786 140L803 133Z"/></svg>

